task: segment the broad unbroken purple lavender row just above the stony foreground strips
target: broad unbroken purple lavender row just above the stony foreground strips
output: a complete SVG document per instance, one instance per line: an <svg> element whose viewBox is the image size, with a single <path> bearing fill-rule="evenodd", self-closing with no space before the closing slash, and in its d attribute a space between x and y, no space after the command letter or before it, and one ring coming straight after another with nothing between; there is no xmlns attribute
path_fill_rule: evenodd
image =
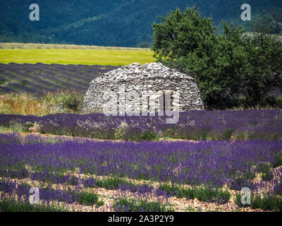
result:
<svg viewBox="0 0 282 226"><path fill-rule="evenodd" d="M262 161L274 164L282 150L282 141L133 143L54 138L50 143L51 138L38 142L37 137L17 142L16 134L1 134L1 167L30 165L51 172L79 168L82 174L221 187L234 184L238 177L241 185L250 182L253 177L248 175L256 173L253 166Z"/></svg>

